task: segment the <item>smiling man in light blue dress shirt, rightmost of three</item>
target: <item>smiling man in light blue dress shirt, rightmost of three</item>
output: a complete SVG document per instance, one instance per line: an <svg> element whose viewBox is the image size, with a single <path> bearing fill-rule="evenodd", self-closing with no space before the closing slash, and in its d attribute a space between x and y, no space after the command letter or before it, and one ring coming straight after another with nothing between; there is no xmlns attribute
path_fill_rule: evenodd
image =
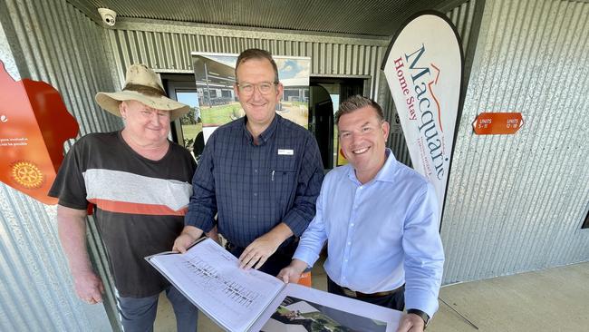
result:
<svg viewBox="0 0 589 332"><path fill-rule="evenodd" d="M398 331L422 331L438 309L444 265L433 186L385 147L378 103L353 96L335 122L349 164L325 177L314 220L278 278L297 281L327 240L330 293L407 308Z"/></svg>

